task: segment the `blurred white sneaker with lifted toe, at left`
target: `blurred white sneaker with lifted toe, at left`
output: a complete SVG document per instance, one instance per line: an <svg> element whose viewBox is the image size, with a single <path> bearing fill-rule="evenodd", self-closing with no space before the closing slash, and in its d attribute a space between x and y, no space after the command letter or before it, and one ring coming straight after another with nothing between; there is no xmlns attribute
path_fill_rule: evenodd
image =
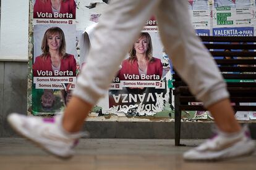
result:
<svg viewBox="0 0 256 170"><path fill-rule="evenodd" d="M88 133L70 134L62 129L62 115L54 118L40 118L11 113L7 120L20 135L31 140L39 147L60 158L74 155L74 147L80 137L88 137Z"/></svg>

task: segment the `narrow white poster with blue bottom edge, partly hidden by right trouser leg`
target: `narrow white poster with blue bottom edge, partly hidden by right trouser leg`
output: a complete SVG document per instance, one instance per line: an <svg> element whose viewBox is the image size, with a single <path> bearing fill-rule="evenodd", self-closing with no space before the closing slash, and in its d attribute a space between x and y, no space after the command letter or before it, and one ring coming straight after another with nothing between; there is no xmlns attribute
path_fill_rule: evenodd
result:
<svg viewBox="0 0 256 170"><path fill-rule="evenodd" d="M208 0L188 0L189 14L195 33L210 36L210 3Z"/></svg>

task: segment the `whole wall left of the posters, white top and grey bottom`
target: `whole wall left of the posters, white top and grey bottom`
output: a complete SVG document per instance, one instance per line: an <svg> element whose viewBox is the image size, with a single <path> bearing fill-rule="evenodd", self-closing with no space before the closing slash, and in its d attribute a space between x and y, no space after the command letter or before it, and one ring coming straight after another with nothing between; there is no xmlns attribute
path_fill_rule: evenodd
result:
<svg viewBox="0 0 256 170"><path fill-rule="evenodd" d="M0 136L15 134L9 113L27 114L28 2L1 0Z"/></svg>

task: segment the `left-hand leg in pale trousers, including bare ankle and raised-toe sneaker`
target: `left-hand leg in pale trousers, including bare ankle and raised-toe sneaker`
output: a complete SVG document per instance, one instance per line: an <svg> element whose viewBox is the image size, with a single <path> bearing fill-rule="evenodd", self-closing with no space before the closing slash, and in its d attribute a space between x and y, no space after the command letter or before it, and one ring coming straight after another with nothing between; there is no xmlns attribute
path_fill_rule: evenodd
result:
<svg viewBox="0 0 256 170"><path fill-rule="evenodd" d="M72 156L89 111L105 94L132 43L161 0L111 0L93 34L87 63L82 68L64 115L50 121L11 114L14 129L50 153Z"/></svg>

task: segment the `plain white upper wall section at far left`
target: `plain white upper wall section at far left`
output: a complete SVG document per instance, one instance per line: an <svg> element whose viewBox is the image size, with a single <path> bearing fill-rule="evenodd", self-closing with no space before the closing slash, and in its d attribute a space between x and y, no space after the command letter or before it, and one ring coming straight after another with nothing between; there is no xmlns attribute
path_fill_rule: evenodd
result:
<svg viewBox="0 0 256 170"><path fill-rule="evenodd" d="M28 60L28 2L1 1L0 60Z"/></svg>

